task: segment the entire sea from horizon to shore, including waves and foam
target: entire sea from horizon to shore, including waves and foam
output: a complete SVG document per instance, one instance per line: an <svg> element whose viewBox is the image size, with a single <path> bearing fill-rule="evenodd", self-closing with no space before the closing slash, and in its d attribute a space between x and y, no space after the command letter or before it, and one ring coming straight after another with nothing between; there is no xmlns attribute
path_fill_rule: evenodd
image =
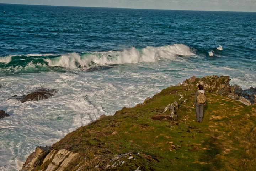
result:
<svg viewBox="0 0 256 171"><path fill-rule="evenodd" d="M0 170L195 75L256 86L256 13L0 4ZM13 95L56 88L52 98Z"/></svg>

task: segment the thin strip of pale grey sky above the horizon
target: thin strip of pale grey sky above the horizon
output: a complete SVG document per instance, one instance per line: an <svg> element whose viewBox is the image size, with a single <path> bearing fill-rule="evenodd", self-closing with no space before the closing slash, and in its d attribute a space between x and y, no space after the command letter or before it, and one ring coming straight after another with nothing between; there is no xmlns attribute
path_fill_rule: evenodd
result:
<svg viewBox="0 0 256 171"><path fill-rule="evenodd" d="M0 3L256 12L256 0L0 0Z"/></svg>

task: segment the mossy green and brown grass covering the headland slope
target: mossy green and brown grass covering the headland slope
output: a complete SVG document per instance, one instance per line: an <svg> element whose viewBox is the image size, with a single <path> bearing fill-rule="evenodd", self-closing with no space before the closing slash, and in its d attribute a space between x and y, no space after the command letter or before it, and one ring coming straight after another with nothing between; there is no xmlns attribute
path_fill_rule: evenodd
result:
<svg viewBox="0 0 256 171"><path fill-rule="evenodd" d="M76 164L82 161L85 170L112 165L110 159L127 152L140 154L132 154L136 160L122 158L125 163L112 170L254 170L256 106L208 93L204 120L196 123L194 91L182 86L164 89L145 105L123 108L80 127L53 147L80 153ZM178 101L178 94L187 102L181 104L176 121L151 119ZM68 169L77 169L76 164Z"/></svg>

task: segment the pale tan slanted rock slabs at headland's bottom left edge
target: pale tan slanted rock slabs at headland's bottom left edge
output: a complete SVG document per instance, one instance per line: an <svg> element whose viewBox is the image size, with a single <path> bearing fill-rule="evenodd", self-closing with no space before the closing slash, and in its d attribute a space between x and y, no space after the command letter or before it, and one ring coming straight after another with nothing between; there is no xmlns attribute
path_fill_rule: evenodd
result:
<svg viewBox="0 0 256 171"><path fill-rule="evenodd" d="M42 158L49 152L50 147L37 147L35 152L28 156L20 171L33 171L41 162Z"/></svg>

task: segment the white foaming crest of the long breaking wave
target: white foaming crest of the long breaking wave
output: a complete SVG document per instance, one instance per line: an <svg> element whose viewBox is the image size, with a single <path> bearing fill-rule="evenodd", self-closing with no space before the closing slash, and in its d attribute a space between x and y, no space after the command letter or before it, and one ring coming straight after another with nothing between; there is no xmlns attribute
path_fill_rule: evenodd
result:
<svg viewBox="0 0 256 171"><path fill-rule="evenodd" d="M130 48L124 51L108 51L93 53L70 53L61 55L54 59L44 59L49 66L62 66L69 68L77 68L90 66L92 63L106 64L127 64L140 62L155 62L161 58L175 59L177 55L191 56L194 55L190 48L183 44L174 44L169 46L151 47L143 49Z"/></svg>

